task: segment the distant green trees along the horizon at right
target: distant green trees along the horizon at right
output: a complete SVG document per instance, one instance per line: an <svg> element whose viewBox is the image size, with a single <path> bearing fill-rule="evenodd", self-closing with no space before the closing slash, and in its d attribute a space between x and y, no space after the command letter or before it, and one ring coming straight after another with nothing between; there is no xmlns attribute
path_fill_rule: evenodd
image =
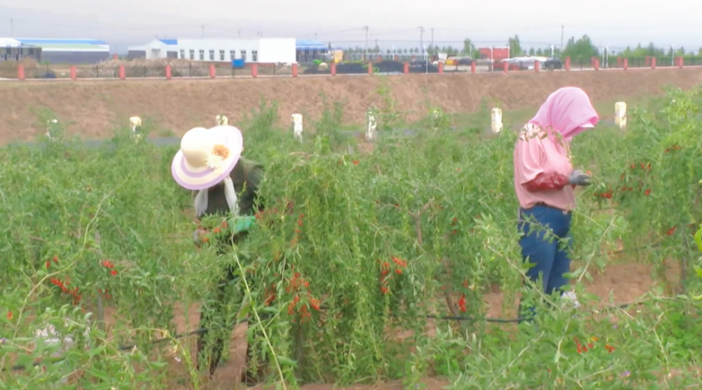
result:
<svg viewBox="0 0 702 390"><path fill-rule="evenodd" d="M589 36L583 35L581 38L576 39L572 36L568 39L563 51L560 48L552 46L551 48L523 48L521 41L519 41L519 36L510 36L505 46L510 48L511 57L521 57L523 55L536 55L539 57L555 57L555 58L566 58L570 57L571 60L576 61L589 61L592 57L600 57L600 55L607 54L614 57L622 58L645 58L645 57L697 57L702 56L702 48L697 51L686 51L684 47L673 48L673 47L658 47L654 43L649 43L647 46L642 46L639 43L635 48L627 46L624 50L614 50L598 47L592 43L592 39ZM364 48L356 46L355 48L345 49L347 53L363 53ZM468 38L463 40L463 47L453 47L449 46L439 46L439 45L428 45L427 52L430 55L435 53L446 53L448 55L460 55L469 58L480 58L480 53L477 51L475 44ZM388 54L388 55L417 55L421 53L421 49L415 48L396 48L396 49L381 49L379 46L374 46L368 49L369 54Z"/></svg>

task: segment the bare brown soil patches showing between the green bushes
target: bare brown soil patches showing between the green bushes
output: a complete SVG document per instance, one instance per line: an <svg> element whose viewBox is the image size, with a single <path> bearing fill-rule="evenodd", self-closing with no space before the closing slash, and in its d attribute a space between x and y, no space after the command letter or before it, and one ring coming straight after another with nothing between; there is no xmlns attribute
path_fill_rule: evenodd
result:
<svg viewBox="0 0 702 390"><path fill-rule="evenodd" d="M631 259L633 260L633 259ZM629 261L631 261L629 260ZM677 283L680 272L677 264L668 263L665 270L665 279L670 283ZM597 295L602 299L602 302L609 302L609 294L614 295L614 302L624 304L635 302L638 298L651 290L654 285L660 285L659 282L654 282L651 279L651 265L649 264L609 264L607 271L604 273L592 272L593 281L591 283L585 281L585 290ZM614 287L616 286L616 288ZM486 316L492 318L514 318L516 316L517 302L513 302L514 311L503 312L503 295L494 288L492 291L484 295L486 302ZM114 309L107 308L105 311L105 321L114 323ZM613 318L616 321L616 318ZM187 332L197 328L199 322L199 307L192 305L184 307L178 304L175 310L174 323L178 332ZM496 324L493 326L510 327L516 331L515 324ZM428 321L428 335L435 335L435 321ZM407 337L403 332L397 337ZM190 348L194 354L196 337L188 337L183 340L183 345ZM239 384L241 368L244 364L244 354L246 354L246 325L239 325L232 332L232 338L229 345L230 360L219 368L214 377L210 380L202 378L206 385L202 389L207 390L223 390L234 389L235 386L245 387ZM173 356L168 356L168 367L171 371L169 379L169 389L194 389L190 381L187 363L185 361L176 361ZM446 381L437 378L425 379L428 390L440 390L448 384ZM390 382L377 384L374 386L355 386L356 390L374 390L374 389L402 389L402 383ZM332 384L311 384L303 386L305 390L333 390Z"/></svg>

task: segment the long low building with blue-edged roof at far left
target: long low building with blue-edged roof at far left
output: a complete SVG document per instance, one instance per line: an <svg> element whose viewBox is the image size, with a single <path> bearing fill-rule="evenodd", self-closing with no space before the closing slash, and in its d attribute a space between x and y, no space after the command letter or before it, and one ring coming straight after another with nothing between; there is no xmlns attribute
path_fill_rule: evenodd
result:
<svg viewBox="0 0 702 390"><path fill-rule="evenodd" d="M32 56L36 60L52 64L94 64L110 58L110 45L97 39L2 38L0 45L20 48L20 52L26 53L22 54L23 58ZM30 48L34 48L32 55L29 54ZM38 52L39 58L35 52ZM17 54L11 60L18 60Z"/></svg>

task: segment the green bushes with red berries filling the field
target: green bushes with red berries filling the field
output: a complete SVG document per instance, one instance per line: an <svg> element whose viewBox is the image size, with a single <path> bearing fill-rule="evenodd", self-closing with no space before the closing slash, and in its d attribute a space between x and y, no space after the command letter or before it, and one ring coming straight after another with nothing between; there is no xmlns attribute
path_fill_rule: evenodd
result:
<svg viewBox="0 0 702 390"><path fill-rule="evenodd" d="M451 128L431 114L407 136L388 107L378 117L395 127L383 123L372 147L339 130L339 104L304 142L275 128L274 105L239 123L245 156L265 164L265 212L220 257L209 238L227 221L193 220L192 195L169 173L176 147L135 140L126 128L100 147L77 139L4 147L0 386L65 379L74 389L168 389L163 349L181 342L174 305L209 299L226 266L245 276L228 307L253 318L256 360L267 356L268 380L284 387L421 386L431 376L455 389L699 383L699 90L671 90L635 109L626 130L603 123L574 141L575 165L595 180L574 213L578 310L523 288L515 133ZM198 228L208 231L201 246L192 242ZM638 250L637 261L656 265L656 279L675 288L616 302L636 304L627 309L584 292L618 247ZM663 280L666 261L681 264L682 283ZM521 295L536 302L536 322L484 321L494 288L505 318ZM100 307L117 310L107 328ZM35 337L46 325L71 335L72 346ZM157 330L166 343L152 344ZM204 388L196 357L177 350L190 367L183 380Z"/></svg>

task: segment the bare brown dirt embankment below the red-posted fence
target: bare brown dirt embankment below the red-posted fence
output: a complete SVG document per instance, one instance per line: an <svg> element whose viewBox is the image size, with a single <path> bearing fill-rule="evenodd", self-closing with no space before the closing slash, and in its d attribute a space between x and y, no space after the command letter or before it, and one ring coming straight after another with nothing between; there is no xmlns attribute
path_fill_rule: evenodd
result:
<svg viewBox="0 0 702 390"><path fill-rule="evenodd" d="M213 126L217 114L241 119L275 100L282 123L295 112L317 119L328 102L345 102L345 121L362 123L372 105L383 107L383 88L406 119L423 116L428 105L446 112L472 112L483 98L503 109L538 107L556 88L579 86L593 101L662 93L663 86L691 88L702 82L702 69L635 69L601 72L515 72L512 74L336 76L269 79L24 81L0 83L0 144L31 140L46 129L32 109L48 108L69 134L107 137L114 123L129 116L157 121L176 135L195 126ZM246 130L246 129L242 129Z"/></svg>

